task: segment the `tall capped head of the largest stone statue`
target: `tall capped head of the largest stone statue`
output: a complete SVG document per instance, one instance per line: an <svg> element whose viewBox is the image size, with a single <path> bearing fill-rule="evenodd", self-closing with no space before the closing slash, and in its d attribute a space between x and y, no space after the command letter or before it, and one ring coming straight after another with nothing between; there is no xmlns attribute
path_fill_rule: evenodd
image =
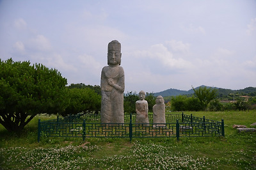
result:
<svg viewBox="0 0 256 170"><path fill-rule="evenodd" d="M121 43L113 40L108 43L108 65L121 64Z"/></svg>

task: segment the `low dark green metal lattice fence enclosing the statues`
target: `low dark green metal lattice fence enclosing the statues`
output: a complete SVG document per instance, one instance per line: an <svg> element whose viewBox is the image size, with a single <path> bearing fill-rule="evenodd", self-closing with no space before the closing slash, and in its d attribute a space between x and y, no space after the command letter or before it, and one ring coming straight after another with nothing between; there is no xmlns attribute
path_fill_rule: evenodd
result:
<svg viewBox="0 0 256 170"><path fill-rule="evenodd" d="M148 114L150 122L153 115ZM210 137L225 136L224 121L187 114L166 114L166 123L135 123L136 114L125 114L125 123L100 123L99 114L76 114L56 120L38 120L38 142L48 137Z"/></svg>

